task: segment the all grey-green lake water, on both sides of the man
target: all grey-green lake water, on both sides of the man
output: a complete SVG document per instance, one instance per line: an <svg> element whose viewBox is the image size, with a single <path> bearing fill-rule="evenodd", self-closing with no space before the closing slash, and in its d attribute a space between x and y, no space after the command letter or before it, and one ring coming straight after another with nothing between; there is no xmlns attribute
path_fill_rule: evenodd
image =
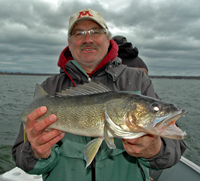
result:
<svg viewBox="0 0 200 181"><path fill-rule="evenodd" d="M20 113L32 101L35 84L47 76L0 75L0 174L15 167L11 148L20 127ZM152 79L158 95L188 110L178 120L188 138L184 156L200 165L200 80Z"/></svg>

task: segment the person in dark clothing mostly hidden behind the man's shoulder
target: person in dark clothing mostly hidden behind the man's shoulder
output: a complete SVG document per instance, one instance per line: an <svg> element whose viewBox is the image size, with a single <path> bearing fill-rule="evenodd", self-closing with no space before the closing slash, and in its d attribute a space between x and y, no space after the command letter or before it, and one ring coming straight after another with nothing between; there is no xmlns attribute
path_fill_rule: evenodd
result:
<svg viewBox="0 0 200 181"><path fill-rule="evenodd" d="M139 51L132 44L127 42L124 36L114 36L112 38L119 46L118 57L122 59L122 63L128 67L138 68L143 70L148 75L148 68L143 60L138 57Z"/></svg>

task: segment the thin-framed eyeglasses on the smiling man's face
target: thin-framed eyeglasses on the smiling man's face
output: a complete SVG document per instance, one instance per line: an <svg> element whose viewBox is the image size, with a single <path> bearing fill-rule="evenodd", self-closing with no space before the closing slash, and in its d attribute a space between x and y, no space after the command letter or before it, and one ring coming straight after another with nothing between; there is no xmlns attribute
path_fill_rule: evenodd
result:
<svg viewBox="0 0 200 181"><path fill-rule="evenodd" d="M104 29L92 29L92 30L88 30L88 31L75 30L74 32L72 32L69 35L69 37L74 36L76 39L83 39L83 38L85 38L87 33L89 33L90 37L97 38L101 34L106 33L106 30L104 30Z"/></svg>

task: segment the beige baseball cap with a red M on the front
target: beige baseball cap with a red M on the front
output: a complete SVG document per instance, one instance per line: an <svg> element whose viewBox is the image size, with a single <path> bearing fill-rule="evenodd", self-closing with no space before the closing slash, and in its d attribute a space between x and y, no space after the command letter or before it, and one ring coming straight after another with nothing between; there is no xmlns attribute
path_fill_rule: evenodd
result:
<svg viewBox="0 0 200 181"><path fill-rule="evenodd" d="M76 12L70 17L68 26L68 35L71 34L71 31L73 30L76 23L84 19L92 20L97 24L99 24L99 26L101 26L103 29L108 29L108 26L105 20L103 19L101 13L94 11L90 8L86 8Z"/></svg>

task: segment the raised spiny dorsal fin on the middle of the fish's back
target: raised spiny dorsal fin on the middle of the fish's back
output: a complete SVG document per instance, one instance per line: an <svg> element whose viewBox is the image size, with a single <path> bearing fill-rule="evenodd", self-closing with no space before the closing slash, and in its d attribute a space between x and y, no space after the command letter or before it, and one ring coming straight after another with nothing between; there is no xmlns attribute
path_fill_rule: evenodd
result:
<svg viewBox="0 0 200 181"><path fill-rule="evenodd" d="M101 83L89 82L85 84L79 84L77 87L71 87L63 90L61 93L57 93L60 96L77 96L77 95L90 95L103 92L109 92L110 89Z"/></svg>

